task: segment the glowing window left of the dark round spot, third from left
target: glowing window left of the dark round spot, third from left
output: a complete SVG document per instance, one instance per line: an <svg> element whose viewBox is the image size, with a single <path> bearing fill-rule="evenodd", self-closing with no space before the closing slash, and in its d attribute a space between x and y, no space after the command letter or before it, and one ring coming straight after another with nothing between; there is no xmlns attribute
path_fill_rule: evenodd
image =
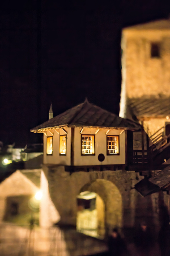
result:
<svg viewBox="0 0 170 256"><path fill-rule="evenodd" d="M82 135L82 155L95 155L95 135Z"/></svg>

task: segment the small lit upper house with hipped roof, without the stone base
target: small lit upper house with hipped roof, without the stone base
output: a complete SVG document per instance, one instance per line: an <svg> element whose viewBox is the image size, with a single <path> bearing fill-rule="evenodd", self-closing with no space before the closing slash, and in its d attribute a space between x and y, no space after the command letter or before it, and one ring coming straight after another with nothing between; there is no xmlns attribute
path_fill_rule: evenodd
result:
<svg viewBox="0 0 170 256"><path fill-rule="evenodd" d="M44 164L60 164L74 171L100 168L101 162L105 168L122 167L126 164L127 131L139 129L137 123L86 100L31 131L44 133Z"/></svg>

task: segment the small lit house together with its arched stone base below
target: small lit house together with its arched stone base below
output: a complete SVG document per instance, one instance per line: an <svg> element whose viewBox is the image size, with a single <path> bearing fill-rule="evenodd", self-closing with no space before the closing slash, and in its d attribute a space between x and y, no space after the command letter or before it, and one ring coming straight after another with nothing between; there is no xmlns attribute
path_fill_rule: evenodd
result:
<svg viewBox="0 0 170 256"><path fill-rule="evenodd" d="M87 100L31 129L44 133L41 226L59 221L103 238L115 226L134 226L146 206L152 216L158 193L139 195L132 188L143 177L125 170L133 159L131 133L140 129ZM151 223L157 222L156 213Z"/></svg>

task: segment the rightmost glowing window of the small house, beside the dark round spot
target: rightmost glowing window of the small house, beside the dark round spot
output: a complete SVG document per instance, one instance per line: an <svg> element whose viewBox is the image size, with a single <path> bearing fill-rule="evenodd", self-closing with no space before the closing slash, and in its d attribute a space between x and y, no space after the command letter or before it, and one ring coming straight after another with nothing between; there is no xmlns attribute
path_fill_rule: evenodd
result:
<svg viewBox="0 0 170 256"><path fill-rule="evenodd" d="M107 135L107 155L119 154L119 137Z"/></svg>

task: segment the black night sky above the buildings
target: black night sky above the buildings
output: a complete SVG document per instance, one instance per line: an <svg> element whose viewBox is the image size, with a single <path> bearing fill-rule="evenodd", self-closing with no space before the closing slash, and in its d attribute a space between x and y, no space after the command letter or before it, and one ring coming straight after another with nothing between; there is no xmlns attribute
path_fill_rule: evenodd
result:
<svg viewBox="0 0 170 256"><path fill-rule="evenodd" d="M167 18L170 2L3 1L0 10L0 140L29 132L84 101L118 114L121 28Z"/></svg>

